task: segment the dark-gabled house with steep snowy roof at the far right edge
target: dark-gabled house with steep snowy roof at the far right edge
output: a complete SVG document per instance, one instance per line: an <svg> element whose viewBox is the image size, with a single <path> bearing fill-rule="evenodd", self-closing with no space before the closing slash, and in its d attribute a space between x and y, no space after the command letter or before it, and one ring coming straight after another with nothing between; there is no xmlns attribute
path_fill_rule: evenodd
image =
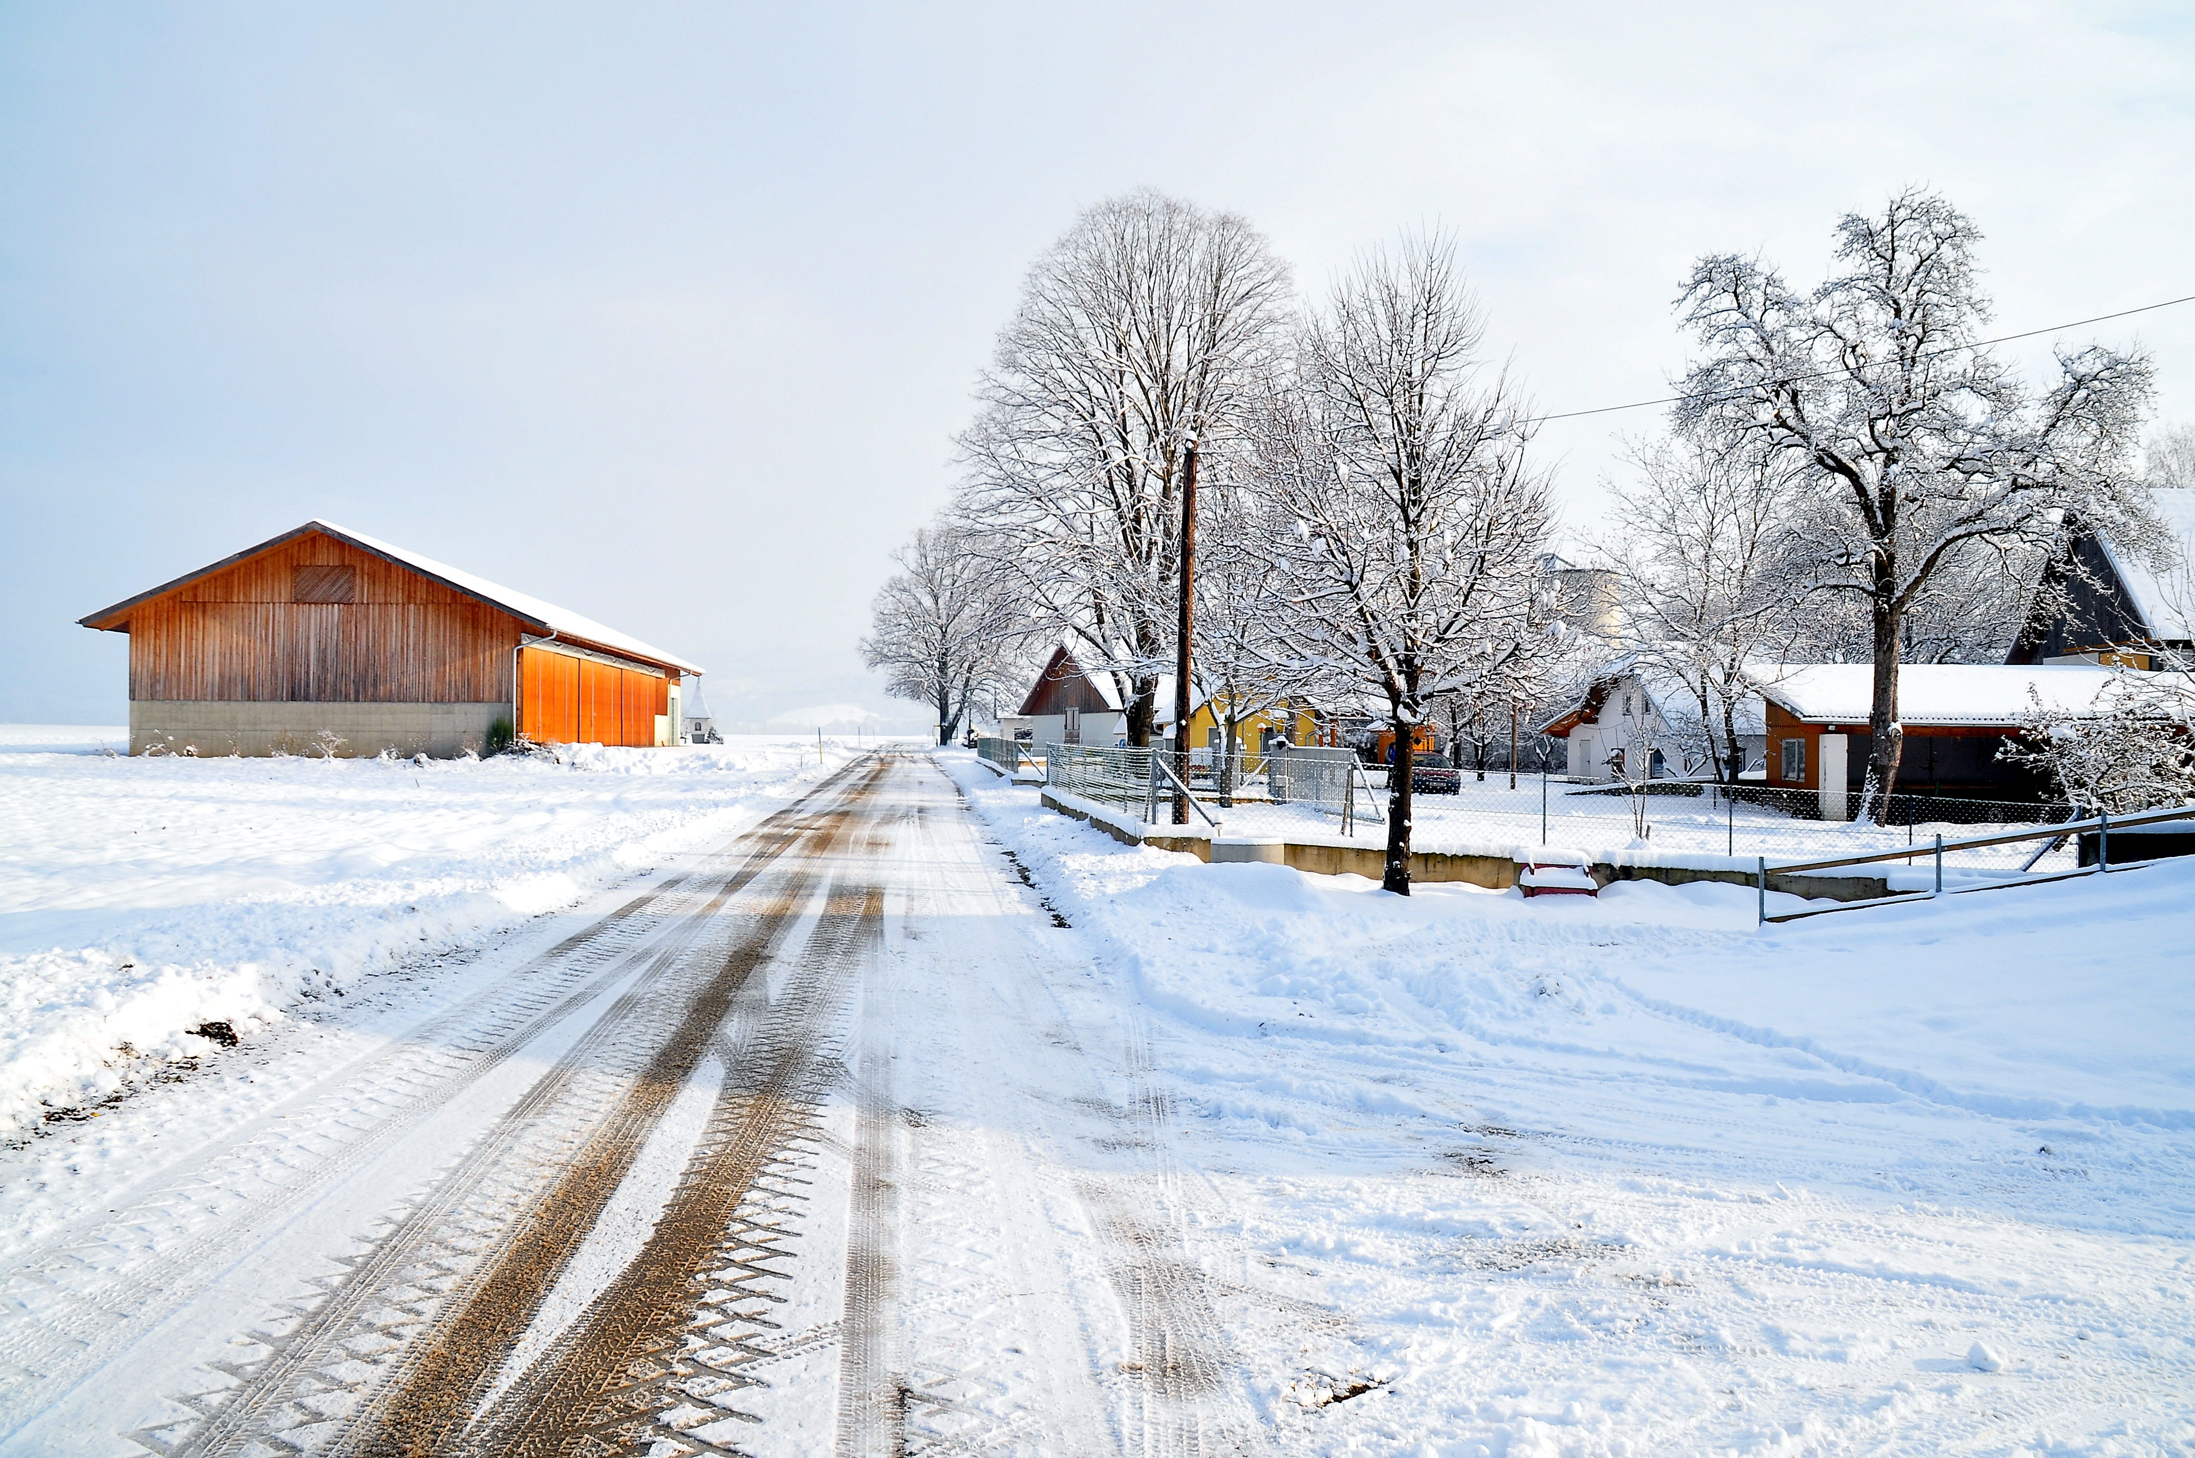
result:
<svg viewBox="0 0 2195 1458"><path fill-rule="evenodd" d="M2177 560L2155 569L2074 527L2006 663L2180 668L2195 659L2195 492L2155 492Z"/></svg>

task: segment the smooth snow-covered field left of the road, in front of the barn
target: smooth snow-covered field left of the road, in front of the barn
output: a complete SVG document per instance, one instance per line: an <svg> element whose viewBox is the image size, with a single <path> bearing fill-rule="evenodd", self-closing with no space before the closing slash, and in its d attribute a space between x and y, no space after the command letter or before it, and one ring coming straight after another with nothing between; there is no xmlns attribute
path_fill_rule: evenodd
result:
<svg viewBox="0 0 2195 1458"><path fill-rule="evenodd" d="M0 1137L204 1052L206 1023L250 1036L722 839L860 749L116 758L127 740L0 727Z"/></svg>

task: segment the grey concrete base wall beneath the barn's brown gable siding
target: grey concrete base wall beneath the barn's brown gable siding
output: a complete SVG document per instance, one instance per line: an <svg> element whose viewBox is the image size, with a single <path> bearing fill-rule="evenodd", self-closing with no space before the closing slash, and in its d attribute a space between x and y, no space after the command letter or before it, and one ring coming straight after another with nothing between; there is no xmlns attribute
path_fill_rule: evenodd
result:
<svg viewBox="0 0 2195 1458"><path fill-rule="evenodd" d="M479 753L507 703L244 703L209 698L130 700L130 753L274 755L320 753L329 733L338 758Z"/></svg>

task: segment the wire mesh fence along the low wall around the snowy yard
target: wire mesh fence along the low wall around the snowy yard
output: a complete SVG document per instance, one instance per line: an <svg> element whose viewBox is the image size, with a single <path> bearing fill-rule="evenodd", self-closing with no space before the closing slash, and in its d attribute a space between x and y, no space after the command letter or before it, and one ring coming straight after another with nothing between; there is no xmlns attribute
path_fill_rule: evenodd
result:
<svg viewBox="0 0 2195 1458"><path fill-rule="evenodd" d="M1383 843L1387 832L1387 771L1359 764L1346 749L1280 749L1234 760L1207 751L1076 744L1054 744L1045 753L1051 788L1150 826L1367 845ZM1822 819L1820 793L1760 782L1576 784L1521 773L1510 788L1506 773L1488 771L1479 780L1473 771L1438 764L1418 769L1414 782L1416 850L1499 856L1561 850L1600 863L1776 863L1905 852L1894 865L1934 874L1938 837L1965 841L2072 819L2063 804L1894 795L1866 821L1835 821ZM1853 801L1857 808L1857 795ZM2074 837L1967 848L1951 854L1947 874L2046 872L2072 867L2076 859Z"/></svg>

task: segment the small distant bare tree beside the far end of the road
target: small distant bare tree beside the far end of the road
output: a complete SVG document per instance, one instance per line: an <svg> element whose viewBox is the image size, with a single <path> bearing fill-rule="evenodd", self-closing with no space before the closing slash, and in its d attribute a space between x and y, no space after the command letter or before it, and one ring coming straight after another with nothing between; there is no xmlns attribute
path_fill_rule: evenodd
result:
<svg viewBox="0 0 2195 1458"><path fill-rule="evenodd" d="M1016 668L1027 615L1012 580L959 527L918 527L891 560L900 571L876 593L860 659L885 672L896 698L937 709L937 742L950 744Z"/></svg>

